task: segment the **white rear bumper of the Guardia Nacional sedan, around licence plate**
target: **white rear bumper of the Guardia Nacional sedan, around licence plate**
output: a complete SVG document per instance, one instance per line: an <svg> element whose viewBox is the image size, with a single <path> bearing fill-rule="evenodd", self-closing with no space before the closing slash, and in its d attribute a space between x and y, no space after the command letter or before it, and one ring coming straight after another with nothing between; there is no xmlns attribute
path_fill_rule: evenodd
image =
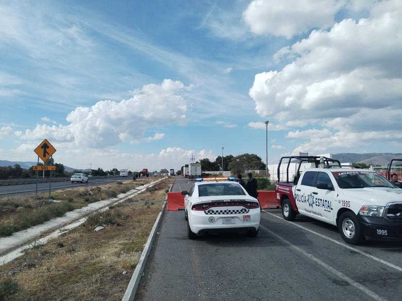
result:
<svg viewBox="0 0 402 301"><path fill-rule="evenodd" d="M191 216L190 216L191 215ZM207 215L203 211L189 212L189 225L196 234L257 231L260 226L260 208L244 214ZM234 224L224 224L225 218L233 218Z"/></svg>

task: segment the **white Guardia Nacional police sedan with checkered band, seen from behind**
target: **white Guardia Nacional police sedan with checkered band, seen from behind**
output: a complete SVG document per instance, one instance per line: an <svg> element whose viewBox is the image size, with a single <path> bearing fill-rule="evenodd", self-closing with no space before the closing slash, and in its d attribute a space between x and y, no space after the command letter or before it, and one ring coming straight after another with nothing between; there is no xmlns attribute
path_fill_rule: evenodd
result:
<svg viewBox="0 0 402 301"><path fill-rule="evenodd" d="M237 182L201 181L190 191L182 191L187 236L224 232L258 234L260 205Z"/></svg>

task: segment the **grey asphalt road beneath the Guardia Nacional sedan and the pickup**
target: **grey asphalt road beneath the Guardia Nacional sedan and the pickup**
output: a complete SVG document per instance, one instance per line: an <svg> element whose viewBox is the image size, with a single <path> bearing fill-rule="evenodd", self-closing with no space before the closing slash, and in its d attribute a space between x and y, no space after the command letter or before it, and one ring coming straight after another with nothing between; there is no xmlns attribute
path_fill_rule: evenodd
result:
<svg viewBox="0 0 402 301"><path fill-rule="evenodd" d="M192 183L176 177L172 191ZM278 209L256 238L186 238L184 211L166 211L135 300L402 300L402 243L343 242L336 227Z"/></svg>

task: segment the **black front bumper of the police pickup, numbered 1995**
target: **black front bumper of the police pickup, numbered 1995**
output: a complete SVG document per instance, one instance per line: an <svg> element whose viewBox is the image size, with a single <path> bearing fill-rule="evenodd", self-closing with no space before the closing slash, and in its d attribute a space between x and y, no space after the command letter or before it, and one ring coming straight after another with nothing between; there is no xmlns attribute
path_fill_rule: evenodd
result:
<svg viewBox="0 0 402 301"><path fill-rule="evenodd" d="M402 221L382 217L357 216L363 227L363 234L372 240L401 240Z"/></svg>

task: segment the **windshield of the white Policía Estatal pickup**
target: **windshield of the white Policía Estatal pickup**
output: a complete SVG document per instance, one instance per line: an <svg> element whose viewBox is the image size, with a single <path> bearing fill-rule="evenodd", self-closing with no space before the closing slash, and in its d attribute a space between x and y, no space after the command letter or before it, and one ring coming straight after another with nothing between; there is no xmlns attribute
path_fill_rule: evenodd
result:
<svg viewBox="0 0 402 301"><path fill-rule="evenodd" d="M365 188L365 187L388 187L397 188L385 177L374 172L353 171L353 172L333 172L339 188Z"/></svg>

